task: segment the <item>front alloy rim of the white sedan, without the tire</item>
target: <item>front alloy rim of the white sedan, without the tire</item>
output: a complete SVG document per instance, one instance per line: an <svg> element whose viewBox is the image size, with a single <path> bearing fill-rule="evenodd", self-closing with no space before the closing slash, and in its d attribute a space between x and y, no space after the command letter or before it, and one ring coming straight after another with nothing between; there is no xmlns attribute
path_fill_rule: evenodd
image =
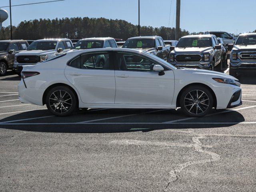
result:
<svg viewBox="0 0 256 192"><path fill-rule="evenodd" d="M209 97L202 90L192 90L184 98L186 110L194 115L200 115L209 108Z"/></svg>

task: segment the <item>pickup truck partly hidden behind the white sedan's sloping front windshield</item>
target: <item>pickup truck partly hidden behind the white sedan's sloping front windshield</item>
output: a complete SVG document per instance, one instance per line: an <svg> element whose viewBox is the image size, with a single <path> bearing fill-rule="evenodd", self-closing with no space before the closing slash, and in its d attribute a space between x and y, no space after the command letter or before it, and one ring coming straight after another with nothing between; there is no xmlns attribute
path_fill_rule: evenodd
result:
<svg viewBox="0 0 256 192"><path fill-rule="evenodd" d="M163 60L168 59L170 45L165 45L160 36L139 36L128 38L122 48L141 49L156 55Z"/></svg>

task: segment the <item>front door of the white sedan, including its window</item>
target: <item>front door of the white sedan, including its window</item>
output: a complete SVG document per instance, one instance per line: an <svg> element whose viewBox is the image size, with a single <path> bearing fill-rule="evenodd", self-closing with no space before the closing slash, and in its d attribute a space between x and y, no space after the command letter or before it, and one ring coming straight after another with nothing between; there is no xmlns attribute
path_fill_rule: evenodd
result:
<svg viewBox="0 0 256 192"><path fill-rule="evenodd" d="M174 73L165 68L164 75L154 72L148 57L115 52L115 104L169 105L174 94Z"/></svg>

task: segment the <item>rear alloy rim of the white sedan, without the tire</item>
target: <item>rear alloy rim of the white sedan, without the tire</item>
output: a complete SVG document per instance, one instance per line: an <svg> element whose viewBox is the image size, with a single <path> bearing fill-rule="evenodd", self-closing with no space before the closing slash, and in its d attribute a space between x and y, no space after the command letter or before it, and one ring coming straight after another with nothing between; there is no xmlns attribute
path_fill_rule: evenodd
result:
<svg viewBox="0 0 256 192"><path fill-rule="evenodd" d="M64 114L72 107L72 97L64 90L56 90L50 95L49 106L55 113Z"/></svg>

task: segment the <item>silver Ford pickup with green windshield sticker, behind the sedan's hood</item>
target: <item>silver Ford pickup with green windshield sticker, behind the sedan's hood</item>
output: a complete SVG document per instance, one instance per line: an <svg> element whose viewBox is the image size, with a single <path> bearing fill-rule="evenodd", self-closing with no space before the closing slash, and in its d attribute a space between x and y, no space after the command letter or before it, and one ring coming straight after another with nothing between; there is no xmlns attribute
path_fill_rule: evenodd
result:
<svg viewBox="0 0 256 192"><path fill-rule="evenodd" d="M222 58L222 46L215 35L188 35L180 38L168 62L176 67L220 71Z"/></svg>

